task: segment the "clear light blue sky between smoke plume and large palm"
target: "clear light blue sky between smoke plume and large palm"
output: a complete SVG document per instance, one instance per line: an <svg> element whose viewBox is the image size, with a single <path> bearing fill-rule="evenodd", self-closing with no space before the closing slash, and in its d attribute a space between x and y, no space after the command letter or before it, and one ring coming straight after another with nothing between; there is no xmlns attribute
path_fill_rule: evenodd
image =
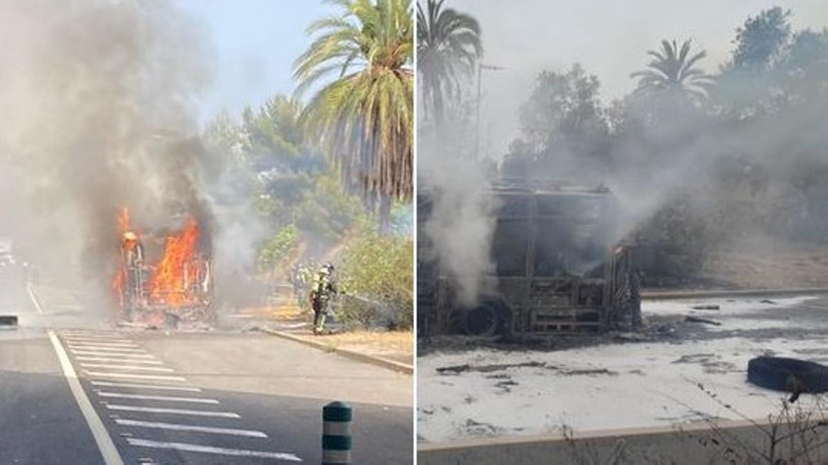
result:
<svg viewBox="0 0 828 465"><path fill-rule="evenodd" d="M205 26L213 84L200 121L222 109L237 116L274 93L291 93L293 61L305 50L305 29L335 10L321 0L175 0Z"/></svg>

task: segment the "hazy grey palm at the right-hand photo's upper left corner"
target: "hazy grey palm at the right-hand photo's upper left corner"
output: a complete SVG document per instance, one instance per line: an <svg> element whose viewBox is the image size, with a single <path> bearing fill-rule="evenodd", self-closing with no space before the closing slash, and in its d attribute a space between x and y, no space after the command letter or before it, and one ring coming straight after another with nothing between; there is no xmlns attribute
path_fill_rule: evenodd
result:
<svg viewBox="0 0 828 465"><path fill-rule="evenodd" d="M443 98L460 93L460 78L474 72L483 55L480 26L474 17L454 8L443 9L444 0L426 0L425 11L416 6L417 70L423 103L437 122L443 117Z"/></svg>

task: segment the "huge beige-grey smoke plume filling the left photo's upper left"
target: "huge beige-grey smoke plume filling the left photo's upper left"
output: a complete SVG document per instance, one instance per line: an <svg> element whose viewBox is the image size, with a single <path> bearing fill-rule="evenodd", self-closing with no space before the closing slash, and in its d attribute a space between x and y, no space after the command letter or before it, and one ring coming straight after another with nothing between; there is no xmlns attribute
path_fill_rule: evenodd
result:
<svg viewBox="0 0 828 465"><path fill-rule="evenodd" d="M122 205L144 231L194 214L210 241L197 23L166 1L2 0L0 42L0 234L22 256L107 286Z"/></svg>

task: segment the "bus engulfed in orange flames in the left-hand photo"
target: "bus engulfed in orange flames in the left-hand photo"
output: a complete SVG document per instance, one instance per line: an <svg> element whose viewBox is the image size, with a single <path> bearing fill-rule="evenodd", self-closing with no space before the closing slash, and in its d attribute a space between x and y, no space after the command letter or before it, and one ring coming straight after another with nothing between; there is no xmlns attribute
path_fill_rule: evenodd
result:
<svg viewBox="0 0 828 465"><path fill-rule="evenodd" d="M118 234L112 287L123 320L175 328L214 319L212 263L195 218L186 218L178 232L142 233L124 208Z"/></svg>

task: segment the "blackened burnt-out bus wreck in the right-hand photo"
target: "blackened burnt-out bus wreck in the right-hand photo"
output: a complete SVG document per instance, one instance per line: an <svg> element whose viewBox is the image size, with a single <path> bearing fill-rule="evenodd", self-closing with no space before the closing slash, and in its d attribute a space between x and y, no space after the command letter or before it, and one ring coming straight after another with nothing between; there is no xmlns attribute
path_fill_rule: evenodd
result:
<svg viewBox="0 0 828 465"><path fill-rule="evenodd" d="M417 199L420 231L434 189ZM422 335L551 335L631 330L641 325L630 244L614 243L619 211L609 189L493 186L492 269L475 304L460 304L456 276L417 235L417 315Z"/></svg>

